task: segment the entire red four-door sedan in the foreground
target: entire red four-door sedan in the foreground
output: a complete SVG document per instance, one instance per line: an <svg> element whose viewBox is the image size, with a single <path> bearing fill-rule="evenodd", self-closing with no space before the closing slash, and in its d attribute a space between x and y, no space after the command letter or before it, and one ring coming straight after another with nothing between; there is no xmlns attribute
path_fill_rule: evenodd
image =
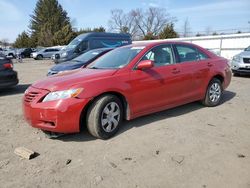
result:
<svg viewBox="0 0 250 188"><path fill-rule="evenodd" d="M194 44L155 42L117 48L88 67L30 86L23 97L26 120L54 133L113 136L123 119L193 101L220 103L231 81L228 61Z"/></svg>

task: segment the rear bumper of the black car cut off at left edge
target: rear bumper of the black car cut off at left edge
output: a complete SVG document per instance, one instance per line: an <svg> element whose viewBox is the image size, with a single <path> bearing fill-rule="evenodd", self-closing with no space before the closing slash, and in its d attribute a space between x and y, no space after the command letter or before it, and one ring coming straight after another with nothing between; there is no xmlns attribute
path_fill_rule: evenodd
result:
<svg viewBox="0 0 250 188"><path fill-rule="evenodd" d="M0 88L12 87L18 84L17 72L14 70L0 71Z"/></svg>

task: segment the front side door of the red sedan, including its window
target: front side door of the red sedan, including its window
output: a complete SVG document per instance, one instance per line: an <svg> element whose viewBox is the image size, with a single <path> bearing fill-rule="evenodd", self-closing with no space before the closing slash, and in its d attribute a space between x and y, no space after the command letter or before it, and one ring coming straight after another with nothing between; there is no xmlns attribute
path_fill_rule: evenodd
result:
<svg viewBox="0 0 250 188"><path fill-rule="evenodd" d="M182 92L179 65L171 45L149 50L141 59L154 61L154 67L131 73L132 105L135 116L159 111L178 101Z"/></svg>

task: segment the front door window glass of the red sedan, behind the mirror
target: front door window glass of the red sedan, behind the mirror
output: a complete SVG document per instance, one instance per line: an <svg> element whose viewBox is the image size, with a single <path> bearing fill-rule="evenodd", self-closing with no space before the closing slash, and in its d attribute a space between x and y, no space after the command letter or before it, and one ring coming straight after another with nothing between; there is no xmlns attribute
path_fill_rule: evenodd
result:
<svg viewBox="0 0 250 188"><path fill-rule="evenodd" d="M148 51L142 60L154 61L156 67L174 64L171 46L157 46Z"/></svg>

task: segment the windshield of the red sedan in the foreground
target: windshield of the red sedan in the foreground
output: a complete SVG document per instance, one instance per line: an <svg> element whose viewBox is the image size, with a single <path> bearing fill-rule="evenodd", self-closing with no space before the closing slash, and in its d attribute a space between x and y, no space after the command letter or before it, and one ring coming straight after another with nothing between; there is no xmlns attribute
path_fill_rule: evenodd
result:
<svg viewBox="0 0 250 188"><path fill-rule="evenodd" d="M87 68L119 69L125 67L144 47L117 48L97 59Z"/></svg>

